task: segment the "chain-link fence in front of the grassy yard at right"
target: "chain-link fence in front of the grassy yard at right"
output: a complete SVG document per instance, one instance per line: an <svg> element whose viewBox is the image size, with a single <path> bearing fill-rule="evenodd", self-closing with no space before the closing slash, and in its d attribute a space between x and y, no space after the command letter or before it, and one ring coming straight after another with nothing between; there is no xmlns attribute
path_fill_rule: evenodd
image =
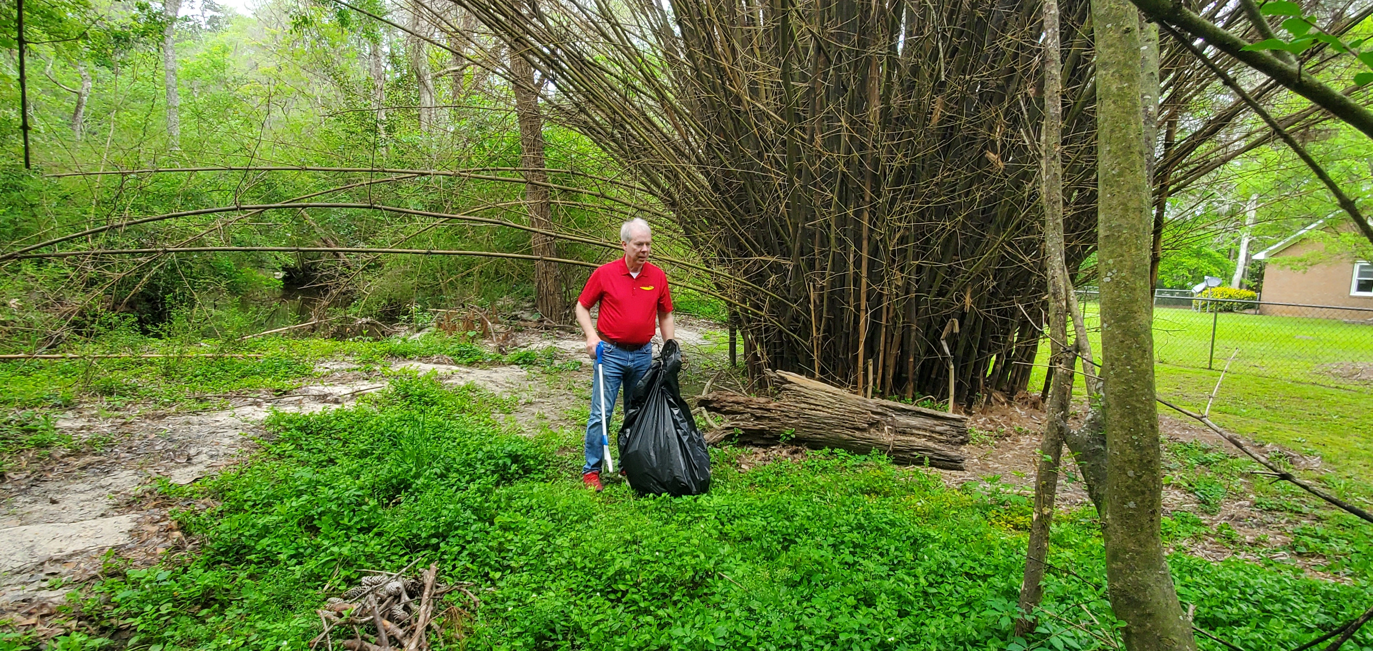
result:
<svg viewBox="0 0 1373 651"><path fill-rule="evenodd" d="M1097 332L1097 288L1079 288L1078 301ZM1155 291L1153 308L1159 364L1230 363L1232 374L1373 387L1373 308L1197 298L1186 290Z"/></svg>

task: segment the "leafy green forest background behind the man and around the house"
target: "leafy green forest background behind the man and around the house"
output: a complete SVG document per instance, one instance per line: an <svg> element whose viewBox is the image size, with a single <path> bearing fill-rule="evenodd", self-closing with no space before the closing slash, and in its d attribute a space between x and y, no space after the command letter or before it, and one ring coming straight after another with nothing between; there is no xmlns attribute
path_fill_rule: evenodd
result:
<svg viewBox="0 0 1373 651"><path fill-rule="evenodd" d="M251 15L213 1L187 3L173 29L180 133L172 137L162 7L33 1L29 10L33 170L18 165L14 5L0 14L7 56L0 144L11 161L0 187L0 239L5 242L27 244L125 216L273 203L316 192L321 192L316 201L325 202L361 196L362 202L526 221L523 179L509 172L520 168L520 146L514 92L503 78L508 54L494 41L461 44L472 60L485 63L474 65L332 3L262 3ZM397 15L404 19L406 12ZM468 29L479 32L475 25ZM1234 130L1256 125L1251 117ZM1373 158L1366 139L1329 122L1302 135L1337 180L1351 190L1368 188ZM585 137L557 124L545 125L544 137L552 180L563 187L553 191L559 228L605 242L614 239L619 221L641 214L604 198L644 199L615 183L622 173L614 161ZM54 176L205 166L504 172L387 174L391 179L261 170ZM349 184L357 185L323 194ZM1252 148L1167 201L1159 269L1159 287L1166 288L1190 288L1205 275L1229 280L1249 209L1256 216L1251 254L1335 209L1324 187L1281 144ZM666 229L659 246L691 255L685 243L674 242L671 224L654 221ZM106 249L185 242L529 251L529 236L518 231L357 209L273 210L251 218L206 214L103 238ZM1344 242L1336 253L1366 246L1357 238ZM607 257L599 247L562 246L563 257ZM66 330L51 321L54 315L73 323L124 315L148 330L173 315L195 313L200 326L238 331L287 324L283 298L319 294L324 286L335 308L391 321L412 310L533 295L533 265L515 260L375 255L368 264L331 264L328 258L335 257L181 254L107 262L99 273L76 260L11 265L3 283L4 295L16 299L15 315L0 327L8 328L5 345L18 352L32 350L40 331ZM1262 268L1263 262L1249 264L1248 287L1262 290ZM1090 261L1085 269L1090 273ZM588 272L564 266L566 287L578 287ZM702 309L718 313L722 306Z"/></svg>

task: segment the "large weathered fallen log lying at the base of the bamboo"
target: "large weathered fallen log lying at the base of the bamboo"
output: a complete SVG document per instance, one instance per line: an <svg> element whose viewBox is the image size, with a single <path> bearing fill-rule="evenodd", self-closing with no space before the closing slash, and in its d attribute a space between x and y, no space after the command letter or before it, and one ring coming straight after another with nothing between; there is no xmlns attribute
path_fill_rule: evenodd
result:
<svg viewBox="0 0 1373 651"><path fill-rule="evenodd" d="M905 466L930 464L964 470L967 419L890 400L864 398L843 389L785 371L769 372L780 387L777 400L714 391L697 398L706 411L725 418L706 442L787 442L806 448L838 448L858 455L886 452Z"/></svg>

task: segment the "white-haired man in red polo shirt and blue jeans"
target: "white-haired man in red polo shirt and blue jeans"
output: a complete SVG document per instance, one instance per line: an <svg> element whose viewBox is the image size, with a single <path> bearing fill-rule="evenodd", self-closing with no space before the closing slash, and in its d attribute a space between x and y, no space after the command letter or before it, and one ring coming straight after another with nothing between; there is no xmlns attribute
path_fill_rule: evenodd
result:
<svg viewBox="0 0 1373 651"><path fill-rule="evenodd" d="M667 275L648 264L654 235L644 220L626 221L619 227L619 243L625 257L601 265L586 280L577 299L577 323L586 334L586 354L596 358L601 347L601 369L605 376L605 413L601 413L601 382L592 374L592 418L586 420L586 466L582 482L599 493L601 463L601 419L615 412L615 394L625 387L625 404L638 379L654 361L654 317L663 331L663 341L673 339L673 297L667 291ZM600 302L600 315L592 326L592 306Z"/></svg>

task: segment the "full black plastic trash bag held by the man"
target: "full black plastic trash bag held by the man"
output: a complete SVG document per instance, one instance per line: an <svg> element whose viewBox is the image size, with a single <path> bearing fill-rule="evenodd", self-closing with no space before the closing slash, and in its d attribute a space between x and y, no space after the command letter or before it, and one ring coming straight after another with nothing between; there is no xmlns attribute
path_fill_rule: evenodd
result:
<svg viewBox="0 0 1373 651"><path fill-rule="evenodd" d="M710 490L710 452L677 385L681 367L681 349L669 339L625 409L619 466L640 493L680 497Z"/></svg>

